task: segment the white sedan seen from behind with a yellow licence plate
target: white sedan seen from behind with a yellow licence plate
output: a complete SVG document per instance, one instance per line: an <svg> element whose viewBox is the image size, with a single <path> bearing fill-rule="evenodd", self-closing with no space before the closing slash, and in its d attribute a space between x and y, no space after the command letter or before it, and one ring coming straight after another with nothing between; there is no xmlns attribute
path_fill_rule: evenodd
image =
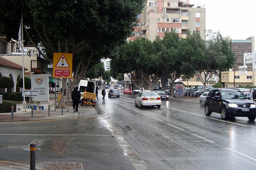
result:
<svg viewBox="0 0 256 170"><path fill-rule="evenodd" d="M160 108L162 104L161 97L156 92L141 92L135 99L135 107L157 106Z"/></svg>

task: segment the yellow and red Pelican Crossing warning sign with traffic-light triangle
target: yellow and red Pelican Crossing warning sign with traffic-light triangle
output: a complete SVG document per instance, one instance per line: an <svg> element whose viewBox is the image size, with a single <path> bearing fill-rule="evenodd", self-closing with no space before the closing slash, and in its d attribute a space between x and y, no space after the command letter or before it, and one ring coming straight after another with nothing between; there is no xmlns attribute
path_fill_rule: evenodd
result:
<svg viewBox="0 0 256 170"><path fill-rule="evenodd" d="M53 78L72 78L72 53L53 53Z"/></svg>

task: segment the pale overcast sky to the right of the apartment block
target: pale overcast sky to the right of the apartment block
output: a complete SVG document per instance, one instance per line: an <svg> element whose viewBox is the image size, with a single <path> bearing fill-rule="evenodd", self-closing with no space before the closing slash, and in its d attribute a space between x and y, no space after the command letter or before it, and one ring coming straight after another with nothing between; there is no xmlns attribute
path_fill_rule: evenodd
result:
<svg viewBox="0 0 256 170"><path fill-rule="evenodd" d="M232 40L256 36L255 0L189 0L189 3L204 5L206 30L220 31L223 37L229 35Z"/></svg>

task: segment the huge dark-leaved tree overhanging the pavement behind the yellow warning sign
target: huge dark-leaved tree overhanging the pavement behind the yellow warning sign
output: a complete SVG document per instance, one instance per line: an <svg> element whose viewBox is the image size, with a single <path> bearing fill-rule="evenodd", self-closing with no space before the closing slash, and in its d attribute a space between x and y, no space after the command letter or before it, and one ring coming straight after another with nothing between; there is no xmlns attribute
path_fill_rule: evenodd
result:
<svg viewBox="0 0 256 170"><path fill-rule="evenodd" d="M106 48L110 51L131 35L144 3L145 0L2 0L0 34L17 40L22 13L25 42L36 47L47 61L52 62L54 52L73 54L73 89L91 60L98 60ZM66 83L63 89L67 89ZM62 91L60 103L65 99Z"/></svg>

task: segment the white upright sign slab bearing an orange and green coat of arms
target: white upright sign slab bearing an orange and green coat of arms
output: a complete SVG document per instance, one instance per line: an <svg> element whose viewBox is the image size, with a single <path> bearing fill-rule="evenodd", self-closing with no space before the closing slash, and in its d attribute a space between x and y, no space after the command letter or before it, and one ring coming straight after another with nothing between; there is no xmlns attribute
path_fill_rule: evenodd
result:
<svg viewBox="0 0 256 170"><path fill-rule="evenodd" d="M49 78L48 74L32 74L31 89L39 91L38 96L34 96L35 101L49 102Z"/></svg>

